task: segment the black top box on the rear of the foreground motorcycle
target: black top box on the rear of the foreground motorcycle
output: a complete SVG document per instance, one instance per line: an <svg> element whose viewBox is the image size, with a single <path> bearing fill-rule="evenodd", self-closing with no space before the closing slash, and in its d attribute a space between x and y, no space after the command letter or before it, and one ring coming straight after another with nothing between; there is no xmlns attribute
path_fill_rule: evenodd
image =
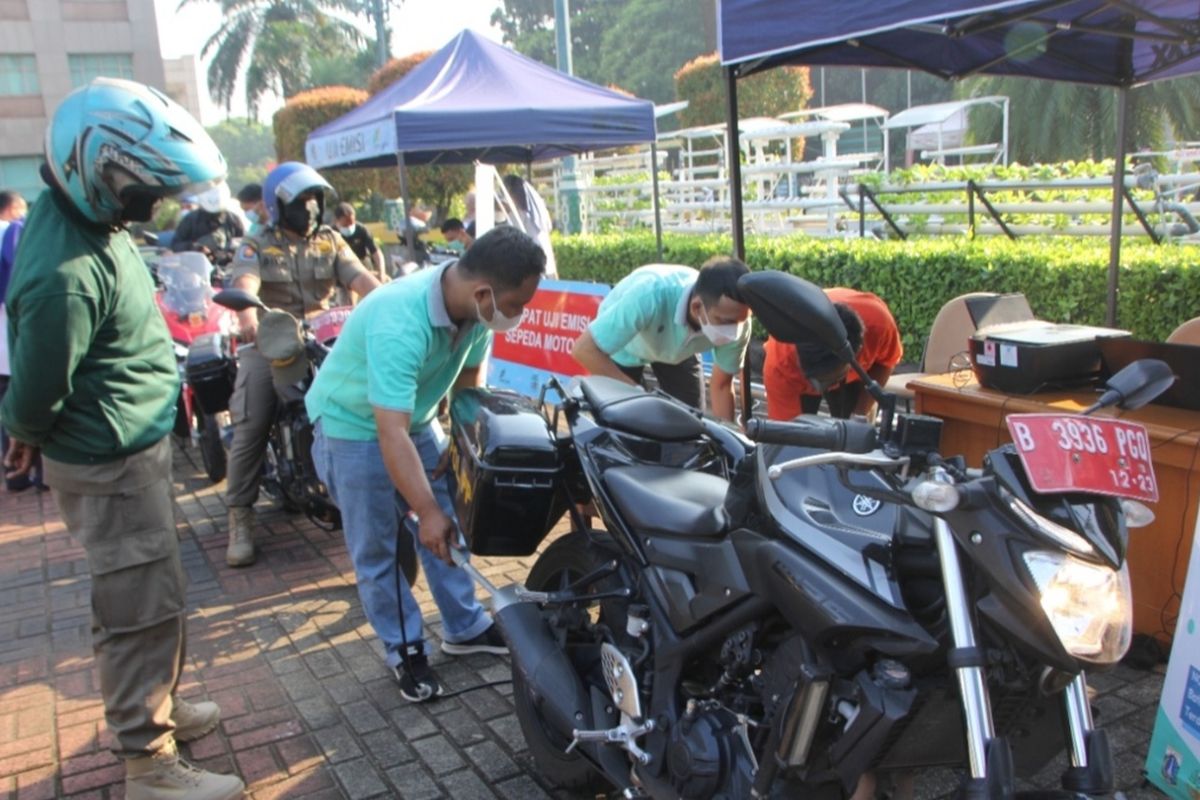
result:
<svg viewBox="0 0 1200 800"><path fill-rule="evenodd" d="M558 444L521 395L469 389L450 405L455 511L476 555L529 555L566 511Z"/></svg>

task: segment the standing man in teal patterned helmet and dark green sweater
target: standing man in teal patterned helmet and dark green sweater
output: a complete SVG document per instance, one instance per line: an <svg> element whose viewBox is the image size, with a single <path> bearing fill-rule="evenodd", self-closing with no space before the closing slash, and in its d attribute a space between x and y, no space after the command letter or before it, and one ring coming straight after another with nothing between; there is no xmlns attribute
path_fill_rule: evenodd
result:
<svg viewBox="0 0 1200 800"><path fill-rule="evenodd" d="M125 223L224 178L187 112L142 84L97 78L46 136L49 188L30 212L6 295L12 383L0 419L10 475L41 450L46 482L91 571L92 646L128 800L223 800L242 782L180 760L214 703L174 698L186 577L172 509L179 377L154 285Z"/></svg>

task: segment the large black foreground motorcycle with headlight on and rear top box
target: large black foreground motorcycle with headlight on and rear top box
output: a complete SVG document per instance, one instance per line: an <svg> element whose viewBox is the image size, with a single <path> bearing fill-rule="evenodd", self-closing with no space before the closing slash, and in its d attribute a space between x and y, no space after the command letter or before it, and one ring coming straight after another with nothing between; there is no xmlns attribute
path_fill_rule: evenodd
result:
<svg viewBox="0 0 1200 800"><path fill-rule="evenodd" d="M1129 645L1126 542L1148 511L1038 493L1013 445L982 469L940 456L940 420L894 411L817 287L767 272L739 289L774 336L842 354L880 425L754 420L748 440L605 378L551 381L548 415L482 390L451 405L474 553L533 553L574 519L523 587L464 564L492 594L539 771L629 798L744 800L840 799L950 766L991 799L1066 748L1064 795L1110 793L1085 670ZM1148 402L1172 380L1160 368L1115 375L1097 408ZM1076 427L1094 456L1104 426ZM587 501L605 530L584 528Z"/></svg>

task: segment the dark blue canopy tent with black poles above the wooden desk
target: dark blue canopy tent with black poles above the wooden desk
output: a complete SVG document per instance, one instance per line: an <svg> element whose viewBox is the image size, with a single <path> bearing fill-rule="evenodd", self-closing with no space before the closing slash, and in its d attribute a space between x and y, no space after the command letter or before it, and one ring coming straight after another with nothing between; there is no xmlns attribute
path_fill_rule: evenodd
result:
<svg viewBox="0 0 1200 800"><path fill-rule="evenodd" d="M1021 76L1118 92L1108 321L1116 325L1127 90L1200 72L1195 0L721 0L721 62L736 142L737 78L787 64ZM731 154L732 156L732 154ZM744 249L731 157L734 246Z"/></svg>

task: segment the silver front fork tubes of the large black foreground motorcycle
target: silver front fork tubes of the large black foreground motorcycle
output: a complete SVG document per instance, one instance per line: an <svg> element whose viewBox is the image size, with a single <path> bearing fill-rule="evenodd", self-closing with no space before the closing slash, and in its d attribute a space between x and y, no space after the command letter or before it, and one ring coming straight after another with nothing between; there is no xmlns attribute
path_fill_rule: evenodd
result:
<svg viewBox="0 0 1200 800"><path fill-rule="evenodd" d="M962 564L949 523L934 518L934 537L942 567L946 609L950 622L948 661L962 698L966 721L967 760L970 777L966 798L1009 798L1015 793L1013 757L1008 742L996 735L991 718L991 703L984 676L984 652L978 646L974 620L962 578ZM1082 673L1063 692L1067 735L1070 745L1070 768L1062 776L1062 786L1082 794L1112 792L1112 756L1105 732L1092 722L1087 700L1087 679Z"/></svg>

